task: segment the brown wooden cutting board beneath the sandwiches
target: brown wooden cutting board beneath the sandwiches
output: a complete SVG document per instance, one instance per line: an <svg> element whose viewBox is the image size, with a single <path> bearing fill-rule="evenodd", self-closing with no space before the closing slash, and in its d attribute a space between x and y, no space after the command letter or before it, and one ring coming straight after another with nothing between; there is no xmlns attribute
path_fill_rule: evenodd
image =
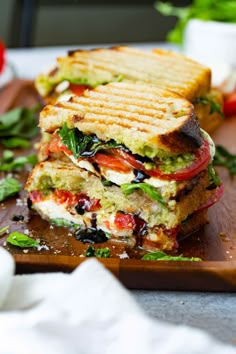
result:
<svg viewBox="0 0 236 354"><path fill-rule="evenodd" d="M37 100L32 82L14 80L0 92L0 113L19 105L32 106ZM236 154L236 118L225 119L213 138ZM29 151L24 153L29 154ZM16 154L22 155L23 151ZM123 259L124 246L114 246L109 241L99 247L109 246L111 258L100 261L129 288L236 291L236 177L230 177L224 168L219 168L218 172L225 193L220 202L210 208L209 224L179 242L179 254L200 257L203 262L143 261L140 254L134 252L130 258ZM22 186L27 174L24 172L17 177ZM0 245L13 254L17 272L75 269L86 259L84 253L88 245L77 241L68 229L50 226L30 212L26 199L22 190L16 198L0 204L0 228L10 225L11 231L29 232L43 245L40 251L22 250L6 244L5 237L0 238ZM14 214L23 215L24 221L12 221Z"/></svg>

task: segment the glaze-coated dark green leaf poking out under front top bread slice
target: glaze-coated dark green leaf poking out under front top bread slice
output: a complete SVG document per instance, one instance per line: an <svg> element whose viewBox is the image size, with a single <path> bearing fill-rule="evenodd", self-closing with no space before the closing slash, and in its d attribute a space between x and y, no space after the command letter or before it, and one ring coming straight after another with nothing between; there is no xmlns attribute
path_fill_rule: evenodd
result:
<svg viewBox="0 0 236 354"><path fill-rule="evenodd" d="M92 157L99 150L124 148L122 144L114 140L102 142L96 135L84 135L79 129L69 129L67 123L64 123L58 132L62 143L72 152L73 156Z"/></svg>

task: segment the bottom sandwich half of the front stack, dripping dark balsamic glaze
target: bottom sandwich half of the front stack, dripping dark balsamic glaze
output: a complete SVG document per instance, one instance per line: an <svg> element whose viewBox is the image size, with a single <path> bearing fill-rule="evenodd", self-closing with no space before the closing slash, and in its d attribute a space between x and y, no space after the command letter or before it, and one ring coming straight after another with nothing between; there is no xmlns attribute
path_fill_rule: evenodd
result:
<svg viewBox="0 0 236 354"><path fill-rule="evenodd" d="M130 247L171 250L184 222L216 202L221 187L208 189L206 170L191 180L168 183L169 188L144 182L131 189L107 186L70 162L46 161L33 170L26 188L43 218L74 227L82 242L90 242L92 233L93 242L111 239Z"/></svg>

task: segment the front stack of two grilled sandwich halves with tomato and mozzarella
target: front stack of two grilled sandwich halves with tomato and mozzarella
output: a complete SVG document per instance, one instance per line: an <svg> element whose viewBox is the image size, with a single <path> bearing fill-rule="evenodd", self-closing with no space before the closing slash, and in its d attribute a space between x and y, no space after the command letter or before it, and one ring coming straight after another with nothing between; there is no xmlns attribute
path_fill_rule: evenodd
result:
<svg viewBox="0 0 236 354"><path fill-rule="evenodd" d="M171 250L222 194L214 144L171 91L101 85L46 106L40 127L50 139L26 185L32 207L82 241Z"/></svg>

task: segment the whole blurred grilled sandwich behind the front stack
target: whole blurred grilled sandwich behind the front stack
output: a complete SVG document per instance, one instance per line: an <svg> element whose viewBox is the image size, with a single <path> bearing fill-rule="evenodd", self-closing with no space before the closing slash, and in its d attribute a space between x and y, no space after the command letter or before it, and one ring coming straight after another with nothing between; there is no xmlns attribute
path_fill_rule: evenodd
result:
<svg viewBox="0 0 236 354"><path fill-rule="evenodd" d="M35 85L46 103L55 103L114 81L152 84L183 95L195 105L200 125L207 131L222 121L222 95L211 89L210 69L182 54L161 49L72 51L58 58L53 70L39 75Z"/></svg>

